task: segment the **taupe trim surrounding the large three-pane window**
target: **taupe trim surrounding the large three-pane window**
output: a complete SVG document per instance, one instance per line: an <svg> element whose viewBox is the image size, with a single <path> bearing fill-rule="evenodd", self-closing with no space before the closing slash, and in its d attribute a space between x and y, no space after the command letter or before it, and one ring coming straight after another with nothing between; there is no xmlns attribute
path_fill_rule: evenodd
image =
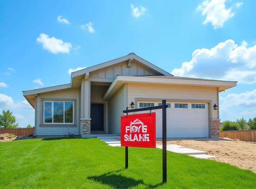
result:
<svg viewBox="0 0 256 189"><path fill-rule="evenodd" d="M40 127L77 127L77 117L76 117L76 100L77 99L66 99L66 98L41 98L40 99ZM60 102L73 102L73 123L44 123L44 101L60 101ZM39 103L39 102L37 102Z"/></svg>

